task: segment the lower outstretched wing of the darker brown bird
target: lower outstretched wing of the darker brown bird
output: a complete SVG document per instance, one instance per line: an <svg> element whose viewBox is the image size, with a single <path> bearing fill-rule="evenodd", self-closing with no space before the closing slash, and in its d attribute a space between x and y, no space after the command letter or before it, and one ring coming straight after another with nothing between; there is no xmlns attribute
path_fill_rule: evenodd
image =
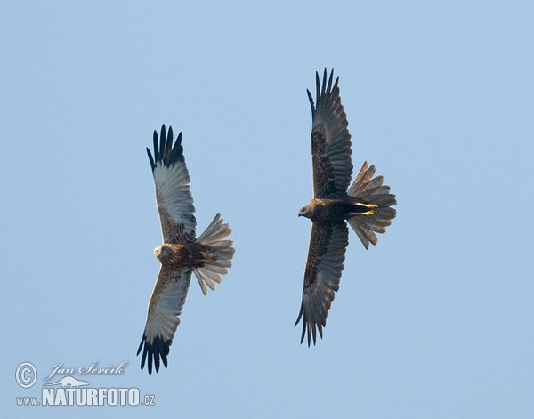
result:
<svg viewBox="0 0 534 419"><path fill-rule="evenodd" d="M303 334L308 332L308 346L313 344L319 329L327 326L328 310L343 270L344 253L349 244L349 229L346 222L313 222L308 260L304 273L303 302L295 326L303 318Z"/></svg>

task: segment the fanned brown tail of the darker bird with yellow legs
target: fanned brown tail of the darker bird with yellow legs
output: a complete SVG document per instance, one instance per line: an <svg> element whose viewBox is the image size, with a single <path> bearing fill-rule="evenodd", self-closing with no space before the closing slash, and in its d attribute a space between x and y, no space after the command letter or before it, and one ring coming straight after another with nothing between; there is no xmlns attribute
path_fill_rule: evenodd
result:
<svg viewBox="0 0 534 419"><path fill-rule="evenodd" d="M363 201L369 208L367 212L354 213L347 220L366 249L369 243L376 245L378 238L375 233L385 233L385 228L392 223L397 213L394 208L390 208L397 204L395 196L390 193L389 186L382 184L382 176L373 178L375 170L375 165L369 167L368 162L364 162L348 190L351 197L355 197L358 202Z"/></svg>

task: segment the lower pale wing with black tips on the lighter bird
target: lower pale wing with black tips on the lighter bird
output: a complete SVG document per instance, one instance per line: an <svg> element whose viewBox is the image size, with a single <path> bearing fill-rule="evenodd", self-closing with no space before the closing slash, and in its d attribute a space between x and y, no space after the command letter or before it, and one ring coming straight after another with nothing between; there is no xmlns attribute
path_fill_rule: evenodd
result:
<svg viewBox="0 0 534 419"><path fill-rule="evenodd" d="M180 324L185 297L191 280L190 268L159 270L158 281L152 291L149 312L137 355L141 353L141 369L147 364L152 374L152 363L159 372L160 362L167 367L167 355L173 343L176 327ZM148 362L147 362L148 361Z"/></svg>

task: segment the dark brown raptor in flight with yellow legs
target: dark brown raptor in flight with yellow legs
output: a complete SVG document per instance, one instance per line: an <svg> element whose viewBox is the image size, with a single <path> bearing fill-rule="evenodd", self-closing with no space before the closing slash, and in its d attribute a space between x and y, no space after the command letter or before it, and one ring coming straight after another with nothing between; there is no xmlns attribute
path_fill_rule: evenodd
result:
<svg viewBox="0 0 534 419"><path fill-rule="evenodd" d="M347 126L339 87L333 84L334 70L327 82L325 68L322 85L316 77L316 97L308 98L312 106L313 198L299 216L312 220L312 234L304 271L303 300L295 326L303 320L301 343L307 332L308 346L316 342L317 331L327 325L328 310L339 289L344 254L349 244L347 223L368 249L376 245L375 233L384 233L395 218L395 196L375 176L375 166L364 162L360 173L351 182L351 134Z"/></svg>

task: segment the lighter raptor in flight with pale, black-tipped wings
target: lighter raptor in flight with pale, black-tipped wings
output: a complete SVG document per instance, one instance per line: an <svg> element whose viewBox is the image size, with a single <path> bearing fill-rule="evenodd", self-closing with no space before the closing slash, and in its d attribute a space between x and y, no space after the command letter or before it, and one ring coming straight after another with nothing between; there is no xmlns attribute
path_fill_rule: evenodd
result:
<svg viewBox="0 0 534 419"><path fill-rule="evenodd" d="M137 355L142 351L141 369L145 364L149 374L152 365L159 372L160 363L167 367L167 356L180 324L185 297L195 272L204 294L221 283L221 275L231 267L234 254L230 226L216 214L207 229L195 236L197 221L193 213L190 175L185 165L182 133L173 144L173 128L154 131L154 154L147 149L156 185L156 205L163 243L154 249L161 262L158 279L150 296L149 311Z"/></svg>

